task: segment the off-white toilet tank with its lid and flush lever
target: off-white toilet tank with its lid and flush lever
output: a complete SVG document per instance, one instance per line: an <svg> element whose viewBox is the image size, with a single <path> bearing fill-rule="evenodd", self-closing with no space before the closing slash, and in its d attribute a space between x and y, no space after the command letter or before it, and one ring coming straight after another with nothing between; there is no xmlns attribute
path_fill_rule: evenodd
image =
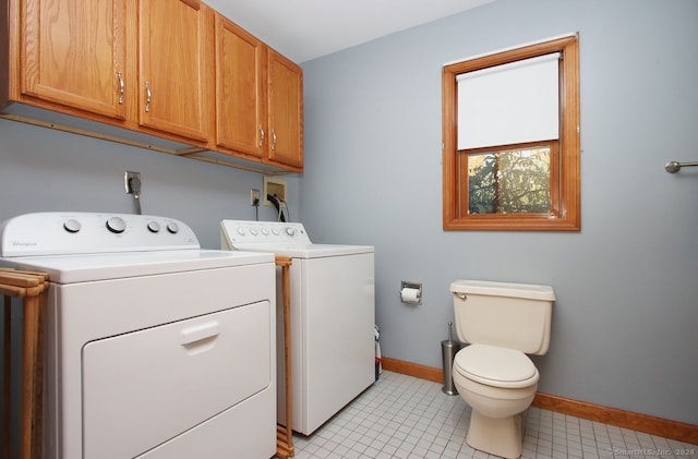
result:
<svg viewBox="0 0 698 459"><path fill-rule="evenodd" d="M529 283L456 280L456 331L461 341L542 355L550 346L555 292Z"/></svg>

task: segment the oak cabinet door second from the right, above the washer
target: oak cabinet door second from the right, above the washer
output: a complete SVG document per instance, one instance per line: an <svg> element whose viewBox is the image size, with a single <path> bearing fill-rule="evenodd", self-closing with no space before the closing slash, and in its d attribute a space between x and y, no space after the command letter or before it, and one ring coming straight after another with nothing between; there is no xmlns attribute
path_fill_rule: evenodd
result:
<svg viewBox="0 0 698 459"><path fill-rule="evenodd" d="M216 145L263 157L266 150L265 47L216 14Z"/></svg>

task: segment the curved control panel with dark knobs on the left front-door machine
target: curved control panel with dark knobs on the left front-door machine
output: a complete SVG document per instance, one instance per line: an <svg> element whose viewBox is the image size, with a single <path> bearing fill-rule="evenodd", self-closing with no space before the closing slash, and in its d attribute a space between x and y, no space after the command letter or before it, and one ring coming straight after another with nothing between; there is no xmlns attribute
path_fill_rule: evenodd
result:
<svg viewBox="0 0 698 459"><path fill-rule="evenodd" d="M5 257L200 249L188 225L151 215L35 213L4 221L0 231Z"/></svg>

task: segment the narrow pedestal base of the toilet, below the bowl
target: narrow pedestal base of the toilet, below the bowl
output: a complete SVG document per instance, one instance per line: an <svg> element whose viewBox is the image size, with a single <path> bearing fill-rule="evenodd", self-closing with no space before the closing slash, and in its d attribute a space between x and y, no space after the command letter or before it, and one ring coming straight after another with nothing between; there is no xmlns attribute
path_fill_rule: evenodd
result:
<svg viewBox="0 0 698 459"><path fill-rule="evenodd" d="M471 448L494 456L518 458L524 448L521 415L488 418L473 410L466 442Z"/></svg>

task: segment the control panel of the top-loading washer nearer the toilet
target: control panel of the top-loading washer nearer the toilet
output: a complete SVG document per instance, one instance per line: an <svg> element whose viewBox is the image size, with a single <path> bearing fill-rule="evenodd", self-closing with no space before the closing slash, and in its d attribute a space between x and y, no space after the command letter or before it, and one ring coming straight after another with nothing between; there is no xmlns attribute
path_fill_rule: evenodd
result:
<svg viewBox="0 0 698 459"><path fill-rule="evenodd" d="M222 233L230 243L293 242L310 244L303 224L287 221L222 220Z"/></svg>

